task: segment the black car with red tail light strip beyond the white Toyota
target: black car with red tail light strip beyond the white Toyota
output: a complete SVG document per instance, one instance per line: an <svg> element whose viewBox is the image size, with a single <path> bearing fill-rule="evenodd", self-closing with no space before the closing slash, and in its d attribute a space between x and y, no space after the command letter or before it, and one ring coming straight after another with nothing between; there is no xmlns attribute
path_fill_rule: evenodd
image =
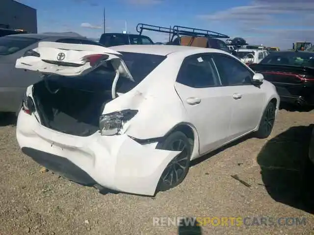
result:
<svg viewBox="0 0 314 235"><path fill-rule="evenodd" d="M273 51L250 67L276 86L281 102L314 105L314 52Z"/></svg>

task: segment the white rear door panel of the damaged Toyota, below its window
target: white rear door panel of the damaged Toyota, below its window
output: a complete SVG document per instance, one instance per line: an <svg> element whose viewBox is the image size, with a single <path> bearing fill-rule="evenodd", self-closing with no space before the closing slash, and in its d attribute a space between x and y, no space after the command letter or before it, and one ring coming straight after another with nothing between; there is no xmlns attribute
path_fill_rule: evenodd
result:
<svg viewBox="0 0 314 235"><path fill-rule="evenodd" d="M195 89L176 83L176 90L187 110L188 122L198 130L200 153L204 154L230 141L232 115L232 94L221 87ZM188 104L189 99L199 99L196 105ZM193 101L193 100L191 100ZM223 105L221 105L223 104ZM202 113L202 115L195 115ZM207 125L204 123L210 118ZM210 135L209 133L215 133Z"/></svg>

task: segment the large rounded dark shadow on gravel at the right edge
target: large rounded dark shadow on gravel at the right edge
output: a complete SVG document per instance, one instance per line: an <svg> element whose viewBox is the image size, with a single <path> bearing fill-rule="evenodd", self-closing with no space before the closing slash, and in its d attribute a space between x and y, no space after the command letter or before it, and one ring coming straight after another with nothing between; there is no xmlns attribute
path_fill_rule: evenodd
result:
<svg viewBox="0 0 314 235"><path fill-rule="evenodd" d="M277 202L314 213L314 166L308 157L313 125L291 127L257 157L263 186Z"/></svg>

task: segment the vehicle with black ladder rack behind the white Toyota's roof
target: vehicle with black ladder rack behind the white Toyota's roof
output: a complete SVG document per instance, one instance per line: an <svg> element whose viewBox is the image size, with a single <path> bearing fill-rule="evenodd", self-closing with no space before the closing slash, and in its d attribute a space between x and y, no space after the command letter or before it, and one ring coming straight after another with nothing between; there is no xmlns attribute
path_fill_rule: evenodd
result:
<svg viewBox="0 0 314 235"><path fill-rule="evenodd" d="M227 44L220 40L229 38L229 36L222 33L179 25L167 28L151 24L137 24L136 31L139 32L140 35L143 30L168 33L169 42L167 45L215 48L231 53Z"/></svg>

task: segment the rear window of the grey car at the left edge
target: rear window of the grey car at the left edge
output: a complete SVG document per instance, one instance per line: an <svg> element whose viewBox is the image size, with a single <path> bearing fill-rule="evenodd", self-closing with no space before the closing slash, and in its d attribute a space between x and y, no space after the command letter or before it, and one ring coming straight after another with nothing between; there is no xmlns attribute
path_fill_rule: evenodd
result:
<svg viewBox="0 0 314 235"><path fill-rule="evenodd" d="M0 37L0 55L13 54L19 50L22 50L36 42L39 39L25 38L25 37Z"/></svg>

